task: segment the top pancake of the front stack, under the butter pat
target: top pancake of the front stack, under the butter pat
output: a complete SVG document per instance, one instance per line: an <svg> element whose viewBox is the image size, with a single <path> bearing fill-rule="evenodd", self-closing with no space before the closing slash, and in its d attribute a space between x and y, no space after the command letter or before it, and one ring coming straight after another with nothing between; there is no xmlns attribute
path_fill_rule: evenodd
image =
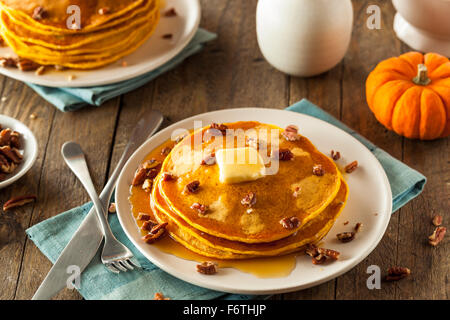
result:
<svg viewBox="0 0 450 320"><path fill-rule="evenodd" d="M273 242L299 231L336 198L341 186L338 168L305 137L296 135L288 141L281 128L259 122L229 123L219 129L223 133L208 126L183 139L167 156L160 173L173 174L176 179L157 179L170 211L194 229L244 243ZM222 183L218 164L202 165L205 156L242 144L259 150L265 164L263 177ZM282 155L286 150L292 158ZM315 167L321 172L315 174ZM194 181L199 188L193 193L188 185ZM256 194L251 208L242 204L249 193ZM195 203L207 206L208 212L192 209ZM282 223L286 218L296 223L286 226Z"/></svg>

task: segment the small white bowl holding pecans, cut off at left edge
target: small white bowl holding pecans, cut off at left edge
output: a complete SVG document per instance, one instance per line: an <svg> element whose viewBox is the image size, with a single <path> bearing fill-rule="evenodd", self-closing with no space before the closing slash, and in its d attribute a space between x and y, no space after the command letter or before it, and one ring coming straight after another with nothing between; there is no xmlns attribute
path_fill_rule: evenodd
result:
<svg viewBox="0 0 450 320"><path fill-rule="evenodd" d="M38 154L38 145L36 138L26 125L19 120L10 118L0 114L0 125L2 128L11 128L22 134L22 148L23 148L23 162L19 165L16 171L7 175L6 180L0 181L0 189L9 186L11 183L19 180L28 170L31 169L36 162Z"/></svg>

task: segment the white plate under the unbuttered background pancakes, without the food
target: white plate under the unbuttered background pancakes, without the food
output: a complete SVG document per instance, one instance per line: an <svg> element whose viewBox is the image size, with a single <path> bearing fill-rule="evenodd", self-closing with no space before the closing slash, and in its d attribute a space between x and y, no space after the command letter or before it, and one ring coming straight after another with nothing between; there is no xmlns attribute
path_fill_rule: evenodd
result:
<svg viewBox="0 0 450 320"><path fill-rule="evenodd" d="M198 0L166 0L166 9L175 8L176 17L161 17L155 34L138 50L104 68L90 71L52 71L37 76L34 72L21 72L12 68L0 68L0 73L25 82L48 87L92 87L116 83L150 72L181 52L194 37L200 24L200 3ZM164 9L163 9L164 10ZM170 40L164 34L173 34ZM0 48L0 57L14 56L7 47ZM127 62L127 67L122 62ZM69 75L75 79L68 81Z"/></svg>

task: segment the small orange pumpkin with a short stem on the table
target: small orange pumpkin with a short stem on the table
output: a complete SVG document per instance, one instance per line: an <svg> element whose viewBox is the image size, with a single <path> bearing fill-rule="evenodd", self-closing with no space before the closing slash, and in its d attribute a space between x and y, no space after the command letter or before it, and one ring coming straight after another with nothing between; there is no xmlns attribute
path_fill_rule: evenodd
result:
<svg viewBox="0 0 450 320"><path fill-rule="evenodd" d="M367 103L386 128L410 139L450 135L450 61L409 52L384 60L366 81Z"/></svg>

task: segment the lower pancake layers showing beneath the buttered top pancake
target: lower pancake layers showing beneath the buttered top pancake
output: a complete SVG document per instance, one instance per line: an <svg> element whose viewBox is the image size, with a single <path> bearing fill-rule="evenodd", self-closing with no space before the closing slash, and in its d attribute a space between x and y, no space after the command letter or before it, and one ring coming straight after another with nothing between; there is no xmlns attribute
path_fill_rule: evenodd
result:
<svg viewBox="0 0 450 320"><path fill-rule="evenodd" d="M190 250L218 259L245 259L301 251L305 245L319 242L342 212L347 197L348 187L345 181L342 181L336 198L323 212L295 234L270 243L243 243L203 233L171 212L157 188L152 191L151 207L159 223L168 223L170 236Z"/></svg>

